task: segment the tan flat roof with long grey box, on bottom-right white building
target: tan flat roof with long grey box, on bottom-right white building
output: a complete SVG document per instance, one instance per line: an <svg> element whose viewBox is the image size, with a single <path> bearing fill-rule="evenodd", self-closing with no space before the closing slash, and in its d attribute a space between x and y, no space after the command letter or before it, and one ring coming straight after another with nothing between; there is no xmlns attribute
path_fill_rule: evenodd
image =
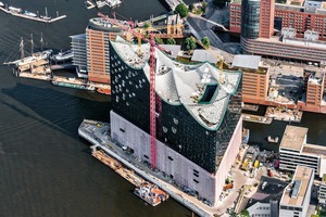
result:
<svg viewBox="0 0 326 217"><path fill-rule="evenodd" d="M280 205L302 206L309 188L309 181L313 176L313 169L298 166L293 181L286 188L280 200ZM290 190L289 190L290 189Z"/></svg>

